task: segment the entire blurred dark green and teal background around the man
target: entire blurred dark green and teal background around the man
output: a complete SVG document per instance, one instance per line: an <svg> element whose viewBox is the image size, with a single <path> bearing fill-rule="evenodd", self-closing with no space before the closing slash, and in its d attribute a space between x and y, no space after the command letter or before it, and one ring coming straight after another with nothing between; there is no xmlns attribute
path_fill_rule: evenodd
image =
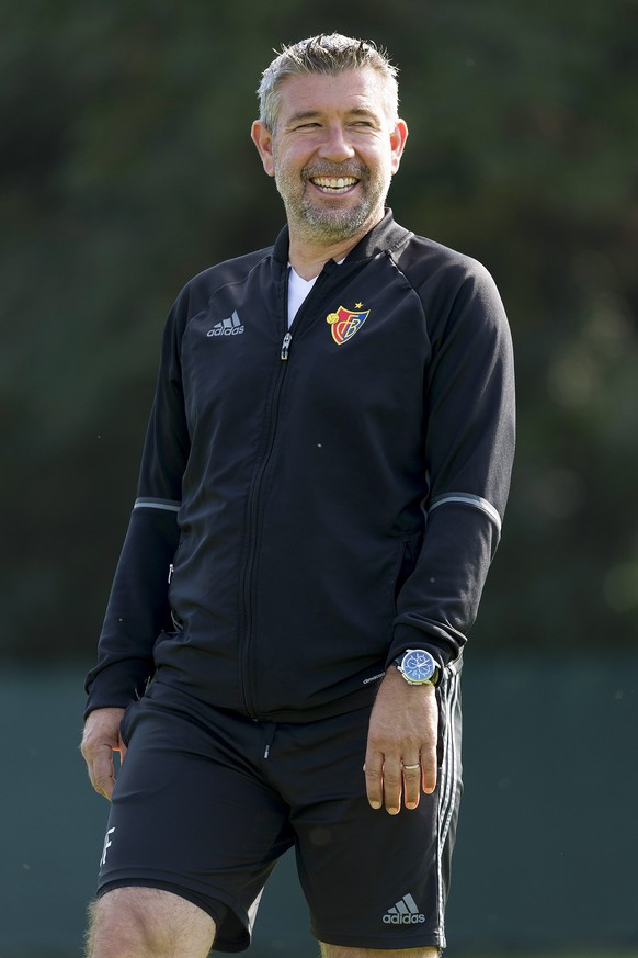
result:
<svg viewBox="0 0 638 958"><path fill-rule="evenodd" d="M2 958L79 954L104 815L75 753L81 676L163 319L191 275L274 239L254 90L273 47L332 30L400 67L410 138L390 204L486 263L516 348L512 495L468 652L451 954L638 945L638 3L0 0Z"/></svg>

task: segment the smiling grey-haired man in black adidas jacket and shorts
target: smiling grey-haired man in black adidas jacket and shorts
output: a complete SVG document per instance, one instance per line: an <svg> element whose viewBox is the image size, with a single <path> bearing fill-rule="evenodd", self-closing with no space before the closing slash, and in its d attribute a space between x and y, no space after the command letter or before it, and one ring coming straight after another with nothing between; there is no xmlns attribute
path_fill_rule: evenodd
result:
<svg viewBox="0 0 638 958"><path fill-rule="evenodd" d="M408 133L385 55L304 41L260 100L287 227L171 311L88 679L82 751L113 800L91 958L241 950L292 846L326 958L445 945L508 325L477 262L384 207Z"/></svg>

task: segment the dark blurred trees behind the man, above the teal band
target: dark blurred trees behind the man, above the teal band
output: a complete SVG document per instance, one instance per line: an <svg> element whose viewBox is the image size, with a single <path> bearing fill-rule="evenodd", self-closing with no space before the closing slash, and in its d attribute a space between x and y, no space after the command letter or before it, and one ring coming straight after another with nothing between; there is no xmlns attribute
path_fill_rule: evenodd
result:
<svg viewBox="0 0 638 958"><path fill-rule="evenodd" d="M388 47L397 218L482 260L519 455L472 641L611 655L638 624L638 4L0 2L0 656L92 658L164 316L283 222L249 140L272 48Z"/></svg>

